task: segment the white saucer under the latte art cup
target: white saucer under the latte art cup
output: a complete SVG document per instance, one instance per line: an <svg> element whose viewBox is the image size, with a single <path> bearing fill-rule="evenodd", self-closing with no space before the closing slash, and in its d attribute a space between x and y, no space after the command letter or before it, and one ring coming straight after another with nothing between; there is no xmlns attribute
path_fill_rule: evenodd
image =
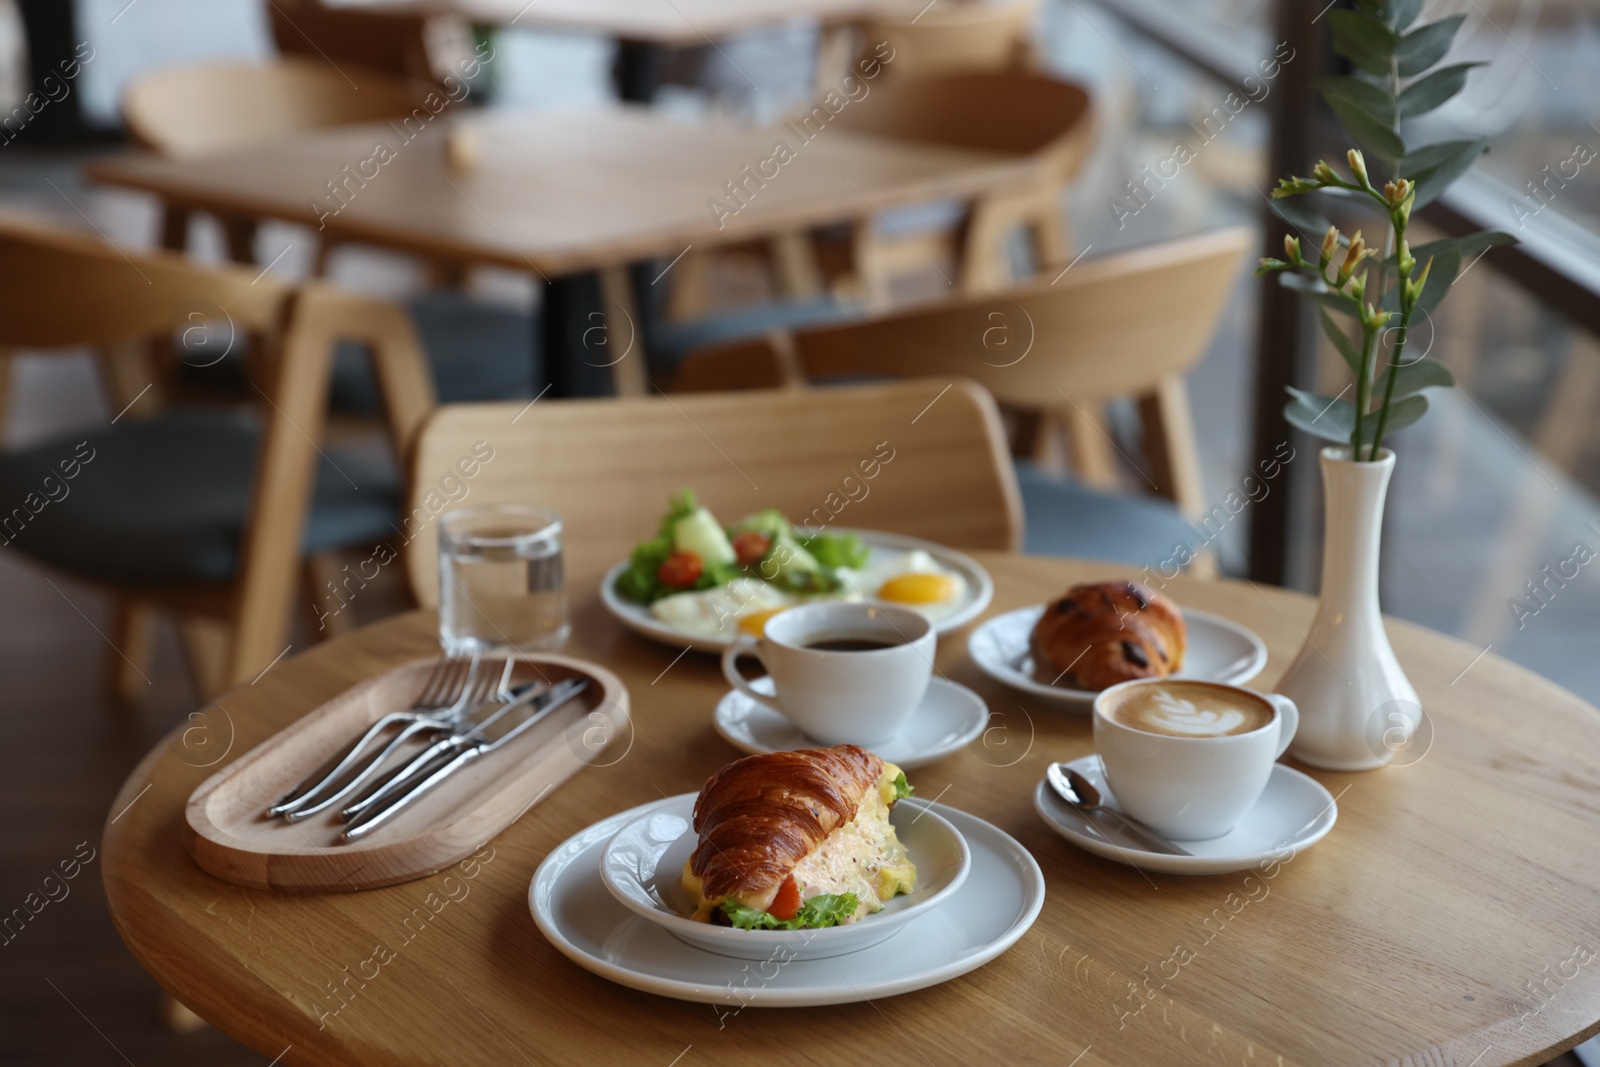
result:
<svg viewBox="0 0 1600 1067"><path fill-rule="evenodd" d="M1099 790L1101 800L1112 808L1117 806L1098 755L1072 760L1067 766L1090 779ZM1272 776L1261 800L1232 830L1210 841L1173 841L1186 853L1192 853L1190 856L1150 853L1126 835L1112 841L1096 824L1088 822L1072 805L1058 797L1048 781L1042 781L1034 790L1034 809L1051 830L1082 849L1139 870L1168 875L1226 875L1274 859L1282 862L1286 849L1298 853L1326 837L1339 817L1339 805L1322 782L1282 763L1272 765Z"/></svg>

